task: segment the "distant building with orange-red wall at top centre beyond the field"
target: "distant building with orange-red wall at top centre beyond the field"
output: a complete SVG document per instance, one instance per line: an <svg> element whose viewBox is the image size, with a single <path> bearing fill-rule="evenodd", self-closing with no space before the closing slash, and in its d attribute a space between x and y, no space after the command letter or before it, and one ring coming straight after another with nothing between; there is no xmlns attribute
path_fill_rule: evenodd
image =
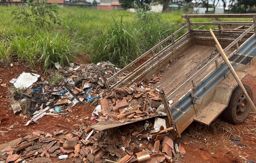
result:
<svg viewBox="0 0 256 163"><path fill-rule="evenodd" d="M97 5L98 10L122 10L121 4L117 0L100 0Z"/></svg>

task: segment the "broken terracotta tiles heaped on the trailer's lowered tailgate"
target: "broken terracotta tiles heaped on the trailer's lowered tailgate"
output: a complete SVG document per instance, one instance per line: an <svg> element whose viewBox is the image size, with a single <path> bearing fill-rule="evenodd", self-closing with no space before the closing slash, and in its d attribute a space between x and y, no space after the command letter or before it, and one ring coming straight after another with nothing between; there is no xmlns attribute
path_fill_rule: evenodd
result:
<svg viewBox="0 0 256 163"><path fill-rule="evenodd" d="M100 100L100 106L92 114L91 123L98 121L97 126L105 126L111 123L141 121L154 116L167 116L161 103L162 98L158 90L160 86L152 86L160 79L160 76L153 76L152 79L143 79L130 87L115 87L110 93L103 94L106 98ZM98 128L104 129L107 128Z"/></svg>

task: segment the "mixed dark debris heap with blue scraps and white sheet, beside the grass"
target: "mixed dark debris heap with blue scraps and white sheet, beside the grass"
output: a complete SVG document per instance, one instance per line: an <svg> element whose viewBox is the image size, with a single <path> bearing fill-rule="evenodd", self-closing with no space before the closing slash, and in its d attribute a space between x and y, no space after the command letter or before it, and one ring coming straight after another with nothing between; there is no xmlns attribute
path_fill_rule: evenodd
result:
<svg viewBox="0 0 256 163"><path fill-rule="evenodd" d="M105 89L104 79L111 77L119 70L110 62L102 62L65 68L58 67L58 71L55 72L48 70L47 72L52 75L49 80L57 80L55 84L50 84L42 77L42 82L36 82L40 76L33 73L22 73L18 79L12 79L10 82L16 88L26 87L21 93L17 92L14 98L21 102L26 101L23 113L28 113L32 117L31 120L36 121L43 115L71 112L71 108L78 103L92 101L95 106L98 103L99 94L103 93ZM119 81L123 75L121 73L109 84ZM27 79L32 80L29 82ZM14 114L22 110L19 102L13 104L12 108Z"/></svg>

